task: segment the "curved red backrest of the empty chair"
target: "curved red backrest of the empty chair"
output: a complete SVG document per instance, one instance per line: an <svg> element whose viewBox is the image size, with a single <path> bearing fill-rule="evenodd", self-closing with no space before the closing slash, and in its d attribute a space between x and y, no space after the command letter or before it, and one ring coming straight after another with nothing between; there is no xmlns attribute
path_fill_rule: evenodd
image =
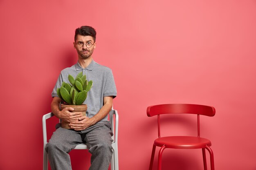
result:
<svg viewBox="0 0 256 170"><path fill-rule="evenodd" d="M215 108L198 104L160 104L148 106L148 117L162 114L187 113L205 116L214 116Z"/></svg>

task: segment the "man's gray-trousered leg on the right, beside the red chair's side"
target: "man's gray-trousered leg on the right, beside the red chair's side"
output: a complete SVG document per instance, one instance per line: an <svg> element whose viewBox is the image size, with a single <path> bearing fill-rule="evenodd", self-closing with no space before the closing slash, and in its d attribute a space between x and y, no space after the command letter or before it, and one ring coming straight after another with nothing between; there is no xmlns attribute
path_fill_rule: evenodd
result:
<svg viewBox="0 0 256 170"><path fill-rule="evenodd" d="M92 153L91 166L89 170L108 170L112 157L112 131L110 123L99 123L94 126L99 126L88 132L85 136L85 142Z"/></svg>

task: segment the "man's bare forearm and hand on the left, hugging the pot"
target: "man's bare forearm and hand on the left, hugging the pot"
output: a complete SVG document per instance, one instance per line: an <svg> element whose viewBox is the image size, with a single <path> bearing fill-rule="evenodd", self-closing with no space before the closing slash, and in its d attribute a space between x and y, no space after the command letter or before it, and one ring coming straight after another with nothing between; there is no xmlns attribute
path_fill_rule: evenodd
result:
<svg viewBox="0 0 256 170"><path fill-rule="evenodd" d="M63 110L60 110L60 102L61 102L61 98L53 97L52 103L51 103L52 113L59 119L62 119L63 121L67 121L67 122L72 122L72 121L78 121L79 117L83 116L81 112L74 112L74 113L70 112L74 110L74 108L72 107L64 108Z"/></svg>

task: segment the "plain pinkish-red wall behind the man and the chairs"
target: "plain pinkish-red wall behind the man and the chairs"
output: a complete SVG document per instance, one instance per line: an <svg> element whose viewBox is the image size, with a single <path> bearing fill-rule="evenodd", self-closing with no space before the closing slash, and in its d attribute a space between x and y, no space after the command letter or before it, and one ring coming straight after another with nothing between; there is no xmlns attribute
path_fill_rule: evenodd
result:
<svg viewBox="0 0 256 170"><path fill-rule="evenodd" d="M41 119L61 69L76 62L72 42L81 25L95 27L94 60L115 76L120 170L148 169L157 126L146 108L165 103L216 107L201 124L216 169L256 169L255 0L1 0L0 21L0 170L42 169ZM195 135L173 123L174 134ZM163 170L203 169L200 150L163 157ZM89 158L72 151L73 170Z"/></svg>

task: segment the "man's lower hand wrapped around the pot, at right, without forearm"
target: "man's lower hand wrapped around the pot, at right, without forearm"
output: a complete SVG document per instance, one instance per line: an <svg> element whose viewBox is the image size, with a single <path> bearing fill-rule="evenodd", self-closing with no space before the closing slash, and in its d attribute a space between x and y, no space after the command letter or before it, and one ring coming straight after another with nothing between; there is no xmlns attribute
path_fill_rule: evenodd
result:
<svg viewBox="0 0 256 170"><path fill-rule="evenodd" d="M78 121L72 121L69 126L74 130L85 130L93 124L95 124L93 118L82 116Z"/></svg>

